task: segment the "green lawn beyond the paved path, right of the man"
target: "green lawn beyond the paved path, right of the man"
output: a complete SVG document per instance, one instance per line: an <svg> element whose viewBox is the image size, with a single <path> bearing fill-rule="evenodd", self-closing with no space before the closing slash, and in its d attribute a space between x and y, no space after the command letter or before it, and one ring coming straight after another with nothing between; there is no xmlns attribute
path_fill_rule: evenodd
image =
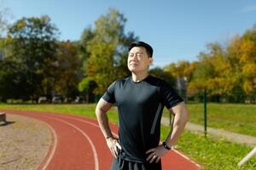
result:
<svg viewBox="0 0 256 170"><path fill-rule="evenodd" d="M203 125L203 104L188 104L190 122ZM164 110L164 116L168 116ZM207 104L207 124L234 133L256 137L256 105Z"/></svg>

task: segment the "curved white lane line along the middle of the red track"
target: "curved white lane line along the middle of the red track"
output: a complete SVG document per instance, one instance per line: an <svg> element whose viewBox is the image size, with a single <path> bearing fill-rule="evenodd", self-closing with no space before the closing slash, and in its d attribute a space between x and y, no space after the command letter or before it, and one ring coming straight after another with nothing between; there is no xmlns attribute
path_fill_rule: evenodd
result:
<svg viewBox="0 0 256 170"><path fill-rule="evenodd" d="M89 141L89 143L90 143L90 147L91 147L91 149L92 149L93 156L94 156L95 169L96 169L96 170L99 170L99 160L98 160L98 156L97 156L97 152L96 152L96 147L95 147L95 145L93 144L93 142L92 142L92 140L90 139L90 137L89 137L86 133L84 133L83 130L81 130L79 127L73 125L73 124L70 123L70 122L66 122L66 121L63 121L63 120L61 120L61 119L53 118L53 117L50 117L50 116L45 116L45 117L48 117L48 118L50 118L50 119L55 119L56 121L59 121L59 122L64 122L64 123L68 124L69 126L74 127L75 129L77 129L80 133L82 133L82 134L84 135L84 137L85 137L85 138Z"/></svg>

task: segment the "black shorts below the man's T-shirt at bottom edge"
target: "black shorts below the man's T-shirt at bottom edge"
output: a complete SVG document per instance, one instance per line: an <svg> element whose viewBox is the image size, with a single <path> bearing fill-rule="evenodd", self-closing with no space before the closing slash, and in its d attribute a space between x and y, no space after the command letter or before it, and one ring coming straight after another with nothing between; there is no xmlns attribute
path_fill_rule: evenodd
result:
<svg viewBox="0 0 256 170"><path fill-rule="evenodd" d="M113 159L110 170L161 170L161 161L158 163L137 163L120 158Z"/></svg>

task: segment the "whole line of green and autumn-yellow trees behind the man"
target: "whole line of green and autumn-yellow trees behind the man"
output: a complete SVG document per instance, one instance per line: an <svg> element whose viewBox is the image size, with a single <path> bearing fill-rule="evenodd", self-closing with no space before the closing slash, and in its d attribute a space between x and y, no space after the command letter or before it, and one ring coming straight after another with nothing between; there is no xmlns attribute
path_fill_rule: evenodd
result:
<svg viewBox="0 0 256 170"><path fill-rule="evenodd" d="M40 96L50 99L59 94L67 102L76 96L93 102L115 79L131 75L127 47L139 38L132 31L125 33L125 22L124 14L110 8L94 26L84 28L79 41L61 42L47 15L16 20L0 39L0 100L38 101ZM6 22L0 20L3 25ZM172 86L177 80L186 82L188 99L200 99L207 89L211 101L253 103L256 26L226 46L207 44L207 52L201 52L197 61L179 61L150 73Z"/></svg>

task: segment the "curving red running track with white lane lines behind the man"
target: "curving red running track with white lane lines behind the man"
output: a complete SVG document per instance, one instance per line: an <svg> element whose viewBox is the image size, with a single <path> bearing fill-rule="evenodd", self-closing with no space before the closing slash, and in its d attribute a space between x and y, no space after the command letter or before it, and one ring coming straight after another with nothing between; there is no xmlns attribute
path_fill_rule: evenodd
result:
<svg viewBox="0 0 256 170"><path fill-rule="evenodd" d="M42 111L1 110L7 114L29 116L46 122L52 133L47 156L38 170L108 170L112 155L96 120L84 116ZM7 117L8 119L8 117ZM113 132L118 127L111 124ZM162 159L164 170L197 170L200 166L178 150Z"/></svg>

